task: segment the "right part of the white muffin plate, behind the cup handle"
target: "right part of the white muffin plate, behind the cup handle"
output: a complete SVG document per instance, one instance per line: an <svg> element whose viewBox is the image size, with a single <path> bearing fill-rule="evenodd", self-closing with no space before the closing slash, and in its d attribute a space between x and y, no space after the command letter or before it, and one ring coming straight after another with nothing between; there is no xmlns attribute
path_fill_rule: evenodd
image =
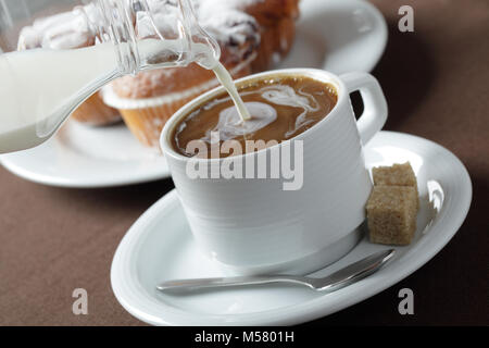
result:
<svg viewBox="0 0 489 348"><path fill-rule="evenodd" d="M387 45L387 23L363 0L302 0L296 40L285 67L324 69L337 75L371 72Z"/></svg>

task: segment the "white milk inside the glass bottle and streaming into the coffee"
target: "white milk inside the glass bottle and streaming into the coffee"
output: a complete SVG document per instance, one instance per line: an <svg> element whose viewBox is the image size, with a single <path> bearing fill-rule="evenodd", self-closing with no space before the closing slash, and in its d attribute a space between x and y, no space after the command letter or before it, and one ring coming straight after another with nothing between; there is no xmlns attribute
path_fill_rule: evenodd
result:
<svg viewBox="0 0 489 348"><path fill-rule="evenodd" d="M147 39L143 57L172 51L179 42ZM195 50L205 50L197 44ZM213 59L209 54L209 60ZM242 120L250 116L226 69L214 59L214 72ZM120 75L113 45L76 50L36 49L0 55L0 152L28 149L47 140L97 87Z"/></svg>

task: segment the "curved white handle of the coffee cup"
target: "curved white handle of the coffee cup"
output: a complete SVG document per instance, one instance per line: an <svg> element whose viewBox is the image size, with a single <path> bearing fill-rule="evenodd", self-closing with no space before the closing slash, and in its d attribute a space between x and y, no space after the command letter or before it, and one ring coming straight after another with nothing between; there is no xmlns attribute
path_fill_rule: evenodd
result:
<svg viewBox="0 0 489 348"><path fill-rule="evenodd" d="M386 123L387 101L377 79L367 73L348 73L340 76L349 94L359 90L364 111L356 121L360 138L367 144Z"/></svg>

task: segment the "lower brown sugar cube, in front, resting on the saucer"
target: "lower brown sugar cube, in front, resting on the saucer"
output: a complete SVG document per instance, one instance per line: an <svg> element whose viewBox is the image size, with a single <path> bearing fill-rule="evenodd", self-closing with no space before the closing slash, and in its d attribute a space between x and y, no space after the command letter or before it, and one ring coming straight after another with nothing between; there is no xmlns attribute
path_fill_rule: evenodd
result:
<svg viewBox="0 0 489 348"><path fill-rule="evenodd" d="M417 195L411 186L374 186L367 223L372 243L409 245L416 231Z"/></svg>

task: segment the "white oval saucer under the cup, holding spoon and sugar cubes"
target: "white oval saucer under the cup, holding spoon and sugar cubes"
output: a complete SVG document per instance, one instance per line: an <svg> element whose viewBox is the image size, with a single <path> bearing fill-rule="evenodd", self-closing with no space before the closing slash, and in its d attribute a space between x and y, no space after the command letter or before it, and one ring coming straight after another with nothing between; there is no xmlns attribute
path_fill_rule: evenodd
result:
<svg viewBox="0 0 489 348"><path fill-rule="evenodd" d="M159 293L155 285L162 279L224 275L197 249L172 191L121 241L111 270L116 298L133 315L154 325L281 325L322 318L380 293L419 269L453 237L471 206L472 184L454 154L406 134L380 132L365 148L365 159L368 167L410 161L422 197L413 243L397 247L394 258L369 277L331 294L293 285ZM364 238L348 256L314 275L326 275L387 248Z"/></svg>

